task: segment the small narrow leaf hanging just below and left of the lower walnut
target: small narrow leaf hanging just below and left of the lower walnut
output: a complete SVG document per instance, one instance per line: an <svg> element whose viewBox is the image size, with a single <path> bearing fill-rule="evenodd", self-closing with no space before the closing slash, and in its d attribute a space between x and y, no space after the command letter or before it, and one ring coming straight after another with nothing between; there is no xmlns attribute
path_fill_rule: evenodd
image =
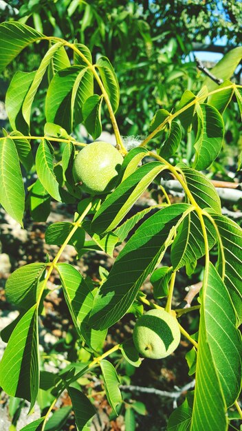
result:
<svg viewBox="0 0 242 431"><path fill-rule="evenodd" d="M100 367L107 399L115 414L118 415L117 407L122 403L122 395L118 387L120 385L120 379L111 362L102 359L102 361L100 361Z"/></svg>

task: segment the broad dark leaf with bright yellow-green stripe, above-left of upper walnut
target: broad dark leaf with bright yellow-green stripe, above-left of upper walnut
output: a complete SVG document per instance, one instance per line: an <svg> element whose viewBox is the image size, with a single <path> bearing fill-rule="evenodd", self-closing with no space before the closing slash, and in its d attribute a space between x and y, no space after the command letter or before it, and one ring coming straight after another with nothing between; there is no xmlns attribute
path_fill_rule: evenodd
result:
<svg viewBox="0 0 242 431"><path fill-rule="evenodd" d="M94 76L88 67L73 65L58 71L45 99L48 123L55 123L71 133L83 120L82 108L94 92Z"/></svg>

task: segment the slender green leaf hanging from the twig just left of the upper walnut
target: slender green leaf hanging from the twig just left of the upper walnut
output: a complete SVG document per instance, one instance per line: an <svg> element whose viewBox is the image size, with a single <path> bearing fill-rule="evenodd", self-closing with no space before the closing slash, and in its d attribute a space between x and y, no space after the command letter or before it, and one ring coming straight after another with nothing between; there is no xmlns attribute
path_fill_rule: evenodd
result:
<svg viewBox="0 0 242 431"><path fill-rule="evenodd" d="M61 202L59 185L54 175L54 149L46 139L41 140L36 152L36 171L50 196Z"/></svg>

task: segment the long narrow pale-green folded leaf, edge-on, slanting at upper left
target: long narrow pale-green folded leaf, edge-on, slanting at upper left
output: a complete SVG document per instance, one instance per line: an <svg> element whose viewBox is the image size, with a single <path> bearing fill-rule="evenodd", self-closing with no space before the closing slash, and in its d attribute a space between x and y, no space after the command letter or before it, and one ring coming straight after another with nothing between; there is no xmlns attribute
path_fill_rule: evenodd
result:
<svg viewBox="0 0 242 431"><path fill-rule="evenodd" d="M34 75L34 79L32 81L32 84L30 85L30 89L28 90L28 93L25 96L25 99L23 101L23 118L25 119L26 123L30 125L30 112L32 103L34 101L34 96L36 94L36 91L39 88L39 85L42 81L42 78L45 74L45 71L50 64L50 61L52 59L52 56L54 56L55 52L59 50L63 46L63 42L58 42L52 45L52 47L47 51L45 54L43 60L41 61L41 64L39 65L39 69L36 70L36 74Z"/></svg>

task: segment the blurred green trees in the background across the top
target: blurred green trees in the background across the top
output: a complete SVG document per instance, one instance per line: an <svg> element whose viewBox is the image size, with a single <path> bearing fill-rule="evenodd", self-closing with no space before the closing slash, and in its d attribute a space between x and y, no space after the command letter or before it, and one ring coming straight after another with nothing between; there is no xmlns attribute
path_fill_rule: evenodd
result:
<svg viewBox="0 0 242 431"><path fill-rule="evenodd" d="M94 61L100 55L110 59L120 83L116 117L123 136L146 135L157 109L170 111L184 90L200 90L205 75L196 67L196 52L206 51L206 65L212 67L216 53L225 54L242 40L242 3L236 0L10 0L1 1L0 8L1 21L18 20L47 36L77 39L89 47ZM36 69L45 50L46 43L34 44L8 67L1 81L3 98L14 72ZM241 72L240 65L236 82ZM34 102L34 134L42 134L45 123L45 79ZM236 104L234 109L230 104L223 117L230 148L224 147L220 160L231 165L231 155L234 151L235 156L239 154L242 147ZM111 131L108 116L103 128ZM80 138L79 129L75 134ZM186 135L178 160L190 162L194 139L192 134Z"/></svg>

